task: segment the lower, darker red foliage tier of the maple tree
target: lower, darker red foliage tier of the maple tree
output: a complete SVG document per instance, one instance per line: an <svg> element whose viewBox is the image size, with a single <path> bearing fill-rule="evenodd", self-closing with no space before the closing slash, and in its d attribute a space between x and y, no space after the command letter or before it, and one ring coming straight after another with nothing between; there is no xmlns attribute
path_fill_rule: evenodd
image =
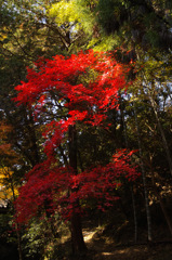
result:
<svg viewBox="0 0 172 260"><path fill-rule="evenodd" d="M118 199L113 191L121 185L121 178L134 181L137 177L125 151L121 151L120 158L115 156L105 167L97 166L78 174L67 167L52 168L52 161L47 160L26 174L26 183L21 187L16 200L17 221L27 222L34 216L42 217L45 210L57 212L68 220L72 205L78 199L81 209L85 209L85 202L92 198L97 202L97 208L104 209Z"/></svg>

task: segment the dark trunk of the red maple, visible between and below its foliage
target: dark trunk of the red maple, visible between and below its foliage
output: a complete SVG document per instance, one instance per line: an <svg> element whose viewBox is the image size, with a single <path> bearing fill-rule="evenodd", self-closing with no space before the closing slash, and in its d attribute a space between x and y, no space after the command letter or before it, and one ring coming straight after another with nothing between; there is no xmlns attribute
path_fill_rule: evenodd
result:
<svg viewBox="0 0 172 260"><path fill-rule="evenodd" d="M75 126L69 127L69 166L74 170L74 174L77 174L77 131ZM74 190L70 191L71 193ZM80 253L87 250L87 246L83 240L81 216L79 210L79 202L75 202L72 205L71 213L71 246L72 253Z"/></svg>

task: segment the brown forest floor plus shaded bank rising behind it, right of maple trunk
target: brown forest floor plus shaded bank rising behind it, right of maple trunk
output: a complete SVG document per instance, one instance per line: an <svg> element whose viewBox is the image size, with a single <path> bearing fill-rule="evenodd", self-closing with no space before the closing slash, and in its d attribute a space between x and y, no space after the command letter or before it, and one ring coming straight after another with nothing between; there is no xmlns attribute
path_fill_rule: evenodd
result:
<svg viewBox="0 0 172 260"><path fill-rule="evenodd" d="M143 234L145 232L145 235ZM160 234L160 239L157 237ZM114 227L106 230L105 226L83 226L84 242L88 247L85 256L65 258L65 260L172 260L172 239L162 239L167 231L163 227L157 230L158 236L151 244L146 243L146 231L142 231L143 240L137 244L130 239L133 230L124 226L118 237ZM114 234L114 235L111 235ZM140 234L141 235L141 234Z"/></svg>

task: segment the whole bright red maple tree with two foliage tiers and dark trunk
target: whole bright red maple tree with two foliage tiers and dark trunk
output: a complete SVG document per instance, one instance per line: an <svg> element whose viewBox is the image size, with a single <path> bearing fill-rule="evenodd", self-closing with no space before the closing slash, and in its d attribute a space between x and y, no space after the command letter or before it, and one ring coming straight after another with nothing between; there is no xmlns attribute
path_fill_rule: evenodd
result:
<svg viewBox="0 0 172 260"><path fill-rule="evenodd" d="M80 213L81 200L95 198L104 209L117 199L114 188L120 177L134 180L137 172L131 167L125 152L118 153L106 166L82 172L77 165L77 131L82 126L105 127L107 112L118 108L118 90L127 88L129 68L121 66L109 53L85 53L53 60L40 60L28 69L27 82L16 87L15 101L35 110L36 121L43 121L47 159L26 174L16 200L17 221L26 222L37 212L58 212L71 221L75 250L85 249ZM106 123L106 127L107 123ZM57 150L68 143L68 159L57 161ZM85 203L84 203L84 207Z"/></svg>

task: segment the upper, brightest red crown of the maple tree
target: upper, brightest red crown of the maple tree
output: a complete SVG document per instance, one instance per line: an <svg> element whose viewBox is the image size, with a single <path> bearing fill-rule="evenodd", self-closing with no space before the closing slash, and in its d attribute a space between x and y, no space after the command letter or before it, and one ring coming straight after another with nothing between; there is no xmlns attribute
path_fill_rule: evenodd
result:
<svg viewBox="0 0 172 260"><path fill-rule="evenodd" d="M127 87L128 68L106 53L80 52L67 58L56 55L36 65L36 69L28 69L28 82L16 87L15 101L32 106L36 113L45 112L51 103L54 119L59 115L61 136L76 121L100 125L106 110L118 106L118 90Z"/></svg>

